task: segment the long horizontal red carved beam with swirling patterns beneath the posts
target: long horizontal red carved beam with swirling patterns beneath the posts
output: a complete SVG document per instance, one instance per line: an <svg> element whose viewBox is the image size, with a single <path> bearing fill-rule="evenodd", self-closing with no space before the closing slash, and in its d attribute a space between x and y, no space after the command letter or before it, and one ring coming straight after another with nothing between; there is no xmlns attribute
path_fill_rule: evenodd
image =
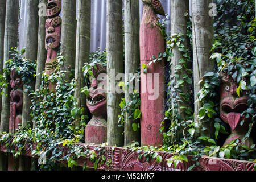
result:
<svg viewBox="0 0 256 182"><path fill-rule="evenodd" d="M31 154L32 150L27 150L30 148L31 143L26 143L24 152L22 155L28 157L38 157ZM37 143L32 144L34 150L36 150ZM78 143L79 147L84 148L84 151L89 149L95 151L98 156L104 155L106 160L103 164L98 166L97 170L104 171L187 171L189 167L193 164L196 164L195 161L192 160L192 156L187 155L188 162L179 163L177 167L174 167L172 164L170 167L167 165L167 159L171 159L173 154L169 154L167 152L158 152L158 155L162 157L162 162L157 163L156 159L145 158L142 155L141 159L137 151L133 151L130 148L120 148L120 147L111 147L105 146L101 148L101 154L99 154L100 150L97 145L88 145L85 143ZM68 149L66 146L61 146L63 148L63 154L67 155ZM18 151L18 147L15 147L15 150ZM102 151L105 151L102 153ZM0 144L0 151L7 152L6 147ZM141 151L143 154L143 151ZM65 160L62 160L65 162ZM67 161L66 161L67 162ZM84 162L86 162L86 166L89 168L94 168L94 163L89 158L80 157L77 159L78 166L84 166ZM107 162L110 162L109 166L107 166ZM199 166L195 165L192 169L193 171L254 171L254 162L249 162L245 160L234 160L234 159L221 159L221 158L209 158L207 156L203 156L198 160Z"/></svg>

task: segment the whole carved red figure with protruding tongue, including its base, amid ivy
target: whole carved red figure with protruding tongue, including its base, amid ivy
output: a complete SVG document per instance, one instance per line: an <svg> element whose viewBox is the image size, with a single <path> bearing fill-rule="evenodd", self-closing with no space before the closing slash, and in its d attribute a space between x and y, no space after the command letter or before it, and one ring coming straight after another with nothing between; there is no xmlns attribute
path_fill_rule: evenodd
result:
<svg viewBox="0 0 256 182"><path fill-rule="evenodd" d="M250 118L241 117L241 113L249 106L247 100L249 97L243 91L240 97L237 96L238 84L231 76L221 73L221 89L220 89L220 116L224 122L230 126L231 134L226 139L224 146L234 139L242 140L249 129ZM243 122L241 126L241 122ZM246 146L253 144L251 138L245 141Z"/></svg>

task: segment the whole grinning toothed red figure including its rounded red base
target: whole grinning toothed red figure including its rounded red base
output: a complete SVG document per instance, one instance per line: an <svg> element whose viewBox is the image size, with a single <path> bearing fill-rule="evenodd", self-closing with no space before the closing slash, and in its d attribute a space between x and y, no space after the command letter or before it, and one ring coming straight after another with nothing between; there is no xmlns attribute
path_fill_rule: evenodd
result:
<svg viewBox="0 0 256 182"><path fill-rule="evenodd" d="M85 128L85 143L101 144L107 139L106 122L106 67L96 64L92 68L93 77L90 76L89 96L87 107L93 117ZM101 86L102 85L102 86Z"/></svg>

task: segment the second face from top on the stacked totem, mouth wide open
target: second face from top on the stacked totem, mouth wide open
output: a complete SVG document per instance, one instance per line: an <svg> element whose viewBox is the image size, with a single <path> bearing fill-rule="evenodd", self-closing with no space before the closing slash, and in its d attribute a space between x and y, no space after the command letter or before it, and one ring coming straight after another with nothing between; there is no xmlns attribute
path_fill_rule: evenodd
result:
<svg viewBox="0 0 256 182"><path fill-rule="evenodd" d="M56 49L60 46L61 18L48 18L46 20L46 49Z"/></svg>

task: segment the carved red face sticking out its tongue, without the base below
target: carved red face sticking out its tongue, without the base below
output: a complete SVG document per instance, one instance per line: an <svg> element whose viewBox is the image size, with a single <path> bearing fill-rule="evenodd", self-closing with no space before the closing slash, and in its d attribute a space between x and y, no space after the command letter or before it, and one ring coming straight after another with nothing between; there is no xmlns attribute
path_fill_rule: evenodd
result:
<svg viewBox="0 0 256 182"><path fill-rule="evenodd" d="M240 122L245 120L243 126L246 126L250 118L241 117L241 113L248 108L247 100L249 97L246 92L237 96L236 90L238 84L230 76L221 74L220 90L220 116L224 122L228 123L232 130L241 127Z"/></svg>

